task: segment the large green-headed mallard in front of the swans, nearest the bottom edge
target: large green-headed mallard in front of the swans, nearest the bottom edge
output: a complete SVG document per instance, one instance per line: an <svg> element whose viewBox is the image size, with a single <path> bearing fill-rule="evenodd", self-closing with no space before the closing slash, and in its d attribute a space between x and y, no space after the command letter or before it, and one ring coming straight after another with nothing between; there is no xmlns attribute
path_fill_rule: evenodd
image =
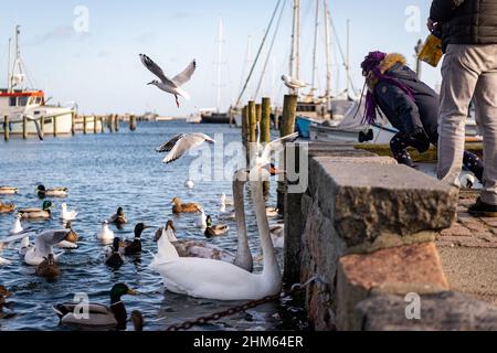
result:
<svg viewBox="0 0 497 353"><path fill-rule="evenodd" d="M56 304L53 310L59 315L60 324L76 329L118 330L127 327L128 314L121 301L124 296L137 296L138 292L125 284L117 284L110 290L110 307L103 304L88 304L88 314L82 315L77 304Z"/></svg>

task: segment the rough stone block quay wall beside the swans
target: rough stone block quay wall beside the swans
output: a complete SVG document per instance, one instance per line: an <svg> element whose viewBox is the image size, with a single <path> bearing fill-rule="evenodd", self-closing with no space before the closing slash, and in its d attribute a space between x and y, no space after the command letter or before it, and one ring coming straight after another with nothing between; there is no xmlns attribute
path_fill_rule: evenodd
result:
<svg viewBox="0 0 497 353"><path fill-rule="evenodd" d="M497 329L495 307L450 291L434 243L455 222L456 190L347 147L309 154L307 192L286 197L285 282L318 278L314 329Z"/></svg>

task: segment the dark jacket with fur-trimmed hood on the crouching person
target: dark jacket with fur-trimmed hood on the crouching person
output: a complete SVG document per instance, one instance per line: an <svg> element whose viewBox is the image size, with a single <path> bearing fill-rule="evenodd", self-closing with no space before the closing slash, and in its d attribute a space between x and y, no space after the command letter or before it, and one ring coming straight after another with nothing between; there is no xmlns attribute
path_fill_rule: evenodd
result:
<svg viewBox="0 0 497 353"><path fill-rule="evenodd" d="M438 95L417 79L416 74L401 63L394 64L387 75L396 78L414 92L414 101L399 87L380 81L374 87L378 106L400 132L419 137L420 132L431 143L438 142Z"/></svg>

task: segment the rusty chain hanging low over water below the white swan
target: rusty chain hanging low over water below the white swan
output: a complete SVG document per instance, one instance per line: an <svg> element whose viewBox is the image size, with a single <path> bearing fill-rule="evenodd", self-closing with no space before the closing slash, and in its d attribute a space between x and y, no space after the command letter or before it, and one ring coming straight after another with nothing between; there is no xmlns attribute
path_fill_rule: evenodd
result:
<svg viewBox="0 0 497 353"><path fill-rule="evenodd" d="M199 325L199 324L207 324L208 322L211 322L211 321L219 321L222 318L231 317L231 315L234 315L236 313L244 312L244 311L247 311L250 309L254 309L254 308L260 307L262 304L266 304L266 303L269 303L269 302L273 302L273 301L286 298L286 297L289 297L289 296L294 296L297 292L300 292L300 291L305 290L308 286L310 286L313 282L318 281L318 280L319 280L319 278L314 277L314 278L309 279L305 284L297 284L297 285L292 286L292 289L289 291L287 291L287 292L282 292L282 293L278 293L278 295L275 295L275 296L265 297L263 299L253 300L253 301L250 301L250 302L247 302L245 304L236 306L236 307L233 307L231 309L223 310L223 311L220 311L220 312L215 312L215 313L207 315L207 317L201 317L201 318L198 318L198 319L192 320L192 321L186 321L186 322L183 322L181 324L173 324L173 325L170 325L168 329L166 329L166 331L169 331L169 332L188 331L188 330L190 330L193 327Z"/></svg>

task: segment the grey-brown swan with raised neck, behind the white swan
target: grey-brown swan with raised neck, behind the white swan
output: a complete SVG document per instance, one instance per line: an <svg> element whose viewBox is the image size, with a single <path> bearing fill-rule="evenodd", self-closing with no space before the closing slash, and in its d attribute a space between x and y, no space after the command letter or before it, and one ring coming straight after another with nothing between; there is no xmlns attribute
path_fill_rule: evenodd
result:
<svg viewBox="0 0 497 353"><path fill-rule="evenodd" d="M254 269L254 260L248 246L245 205L244 205L244 185L246 184L246 170L237 171L233 178L233 195L235 201L236 214L236 237L237 249L236 255L222 250L205 242L180 239L176 237L176 229L172 221L169 221L165 228L156 233L156 242L158 243L159 257L167 256L162 252L169 247L167 243L172 243L180 257L208 258L234 264L235 266L252 272ZM168 238L167 242L163 238Z"/></svg>

